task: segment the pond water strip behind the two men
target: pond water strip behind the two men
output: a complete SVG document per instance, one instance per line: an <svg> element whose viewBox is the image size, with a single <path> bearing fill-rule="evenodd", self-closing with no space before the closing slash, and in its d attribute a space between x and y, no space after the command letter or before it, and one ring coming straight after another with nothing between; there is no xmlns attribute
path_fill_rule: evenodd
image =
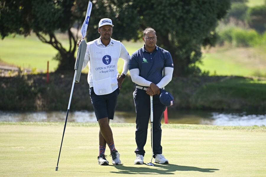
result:
<svg viewBox="0 0 266 177"><path fill-rule="evenodd" d="M65 122L67 111L10 112L0 111L0 122ZM111 122L135 123L135 112L116 112ZM67 122L97 122L94 112L69 110ZM164 117L162 119L164 123ZM205 125L266 125L266 112L210 112L168 110L168 123Z"/></svg>

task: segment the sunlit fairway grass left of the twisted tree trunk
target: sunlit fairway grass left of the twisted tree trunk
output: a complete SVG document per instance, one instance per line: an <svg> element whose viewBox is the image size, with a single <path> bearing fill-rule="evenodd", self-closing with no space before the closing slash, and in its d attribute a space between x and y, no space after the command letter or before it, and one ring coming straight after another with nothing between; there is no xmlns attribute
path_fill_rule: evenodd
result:
<svg viewBox="0 0 266 177"><path fill-rule="evenodd" d="M0 59L1 61L22 68L36 68L54 71L58 65L56 60L52 60L57 51L48 44L41 42L36 36L16 37L8 36L0 40Z"/></svg>

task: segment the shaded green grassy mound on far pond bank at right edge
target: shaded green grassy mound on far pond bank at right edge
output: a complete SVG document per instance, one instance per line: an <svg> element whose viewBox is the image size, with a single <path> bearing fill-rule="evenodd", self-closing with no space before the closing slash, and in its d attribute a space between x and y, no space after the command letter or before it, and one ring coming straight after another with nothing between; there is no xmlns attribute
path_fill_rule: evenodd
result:
<svg viewBox="0 0 266 177"><path fill-rule="evenodd" d="M224 79L220 83L207 83L197 90L192 97L193 107L232 109L232 110L264 110L266 103L265 81L248 78ZM234 97L234 99L230 98ZM252 104L252 107L248 106Z"/></svg>

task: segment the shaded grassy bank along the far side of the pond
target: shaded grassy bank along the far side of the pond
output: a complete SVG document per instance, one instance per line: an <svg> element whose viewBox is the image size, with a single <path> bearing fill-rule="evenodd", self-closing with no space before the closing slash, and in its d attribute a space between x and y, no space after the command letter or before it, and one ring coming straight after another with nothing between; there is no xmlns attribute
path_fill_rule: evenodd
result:
<svg viewBox="0 0 266 177"><path fill-rule="evenodd" d="M66 110L74 72L17 75L1 77L0 110L36 111ZM130 76L120 90L118 111L134 111L132 93L135 90ZM169 109L209 109L227 111L265 111L266 81L235 76L177 77L166 87L174 96ZM74 85L72 110L93 110L87 74Z"/></svg>

